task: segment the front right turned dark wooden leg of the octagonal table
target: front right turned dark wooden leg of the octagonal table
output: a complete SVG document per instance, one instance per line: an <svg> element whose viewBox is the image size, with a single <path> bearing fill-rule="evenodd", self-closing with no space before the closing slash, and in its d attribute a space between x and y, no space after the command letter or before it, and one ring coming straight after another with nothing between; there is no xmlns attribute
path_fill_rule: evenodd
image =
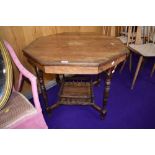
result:
<svg viewBox="0 0 155 155"><path fill-rule="evenodd" d="M114 68L109 69L106 72L106 80L105 80L105 88L104 88L104 98L103 98L103 108L102 108L102 115L101 117L104 118L107 110L106 110L106 105L108 102L108 97L109 97L109 92L110 92L110 85L111 85L111 78L112 78L112 74L114 72Z"/></svg>

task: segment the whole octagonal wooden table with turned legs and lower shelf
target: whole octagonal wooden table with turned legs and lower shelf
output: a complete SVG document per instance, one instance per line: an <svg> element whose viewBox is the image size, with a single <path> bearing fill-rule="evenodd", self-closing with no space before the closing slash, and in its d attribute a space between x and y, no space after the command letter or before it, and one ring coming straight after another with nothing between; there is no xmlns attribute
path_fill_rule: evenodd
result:
<svg viewBox="0 0 155 155"><path fill-rule="evenodd" d="M36 68L48 112L62 104L90 105L100 112L102 118L107 112L112 74L129 53L119 39L95 33L63 33L41 37L25 47L23 52ZM79 83L73 80L72 84L68 85L65 81L61 83L58 78L58 74L99 74L103 71L106 72L106 81L102 107L94 103L92 81L86 84L85 81ZM57 74L57 82L61 84L60 100L50 107L43 72ZM85 102L86 100L89 102Z"/></svg>

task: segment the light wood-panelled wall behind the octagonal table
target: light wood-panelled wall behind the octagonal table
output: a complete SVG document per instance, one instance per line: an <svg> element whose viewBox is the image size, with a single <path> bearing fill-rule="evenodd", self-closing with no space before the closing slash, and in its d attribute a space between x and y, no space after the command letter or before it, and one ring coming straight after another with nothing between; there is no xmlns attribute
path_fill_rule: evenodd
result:
<svg viewBox="0 0 155 155"><path fill-rule="evenodd" d="M24 64L28 70L35 73L34 69L27 62L22 53L22 49L35 39L41 36L62 32L97 32L106 36L111 36L117 35L120 31L119 29L119 26L113 28L111 26L0 26L0 36L13 46L22 64ZM114 32L114 30L116 32ZM13 66L13 68L16 82L18 79L18 71L15 66ZM45 76L46 81L49 81L52 78L54 78L54 76ZM24 84L23 91L25 92L27 90L29 90L29 85Z"/></svg>

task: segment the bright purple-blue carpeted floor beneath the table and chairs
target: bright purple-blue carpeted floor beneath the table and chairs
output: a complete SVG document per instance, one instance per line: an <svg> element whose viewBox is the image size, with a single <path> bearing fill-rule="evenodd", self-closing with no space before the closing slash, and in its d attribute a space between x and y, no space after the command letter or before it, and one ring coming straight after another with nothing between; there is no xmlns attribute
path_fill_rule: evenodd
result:
<svg viewBox="0 0 155 155"><path fill-rule="evenodd" d="M132 73L129 72L128 64L121 74L118 72L120 66L114 73L105 120L101 120L98 112L89 106L61 106L49 116L44 113L48 127L51 129L155 128L155 74L150 78L155 60L145 61L134 90L130 90L137 61L138 57L134 55ZM102 82L98 87L94 87L95 102L98 105L102 104L104 87L104 76L100 77ZM49 104L57 101L58 91L58 86L48 91ZM40 100L43 106L41 96Z"/></svg>

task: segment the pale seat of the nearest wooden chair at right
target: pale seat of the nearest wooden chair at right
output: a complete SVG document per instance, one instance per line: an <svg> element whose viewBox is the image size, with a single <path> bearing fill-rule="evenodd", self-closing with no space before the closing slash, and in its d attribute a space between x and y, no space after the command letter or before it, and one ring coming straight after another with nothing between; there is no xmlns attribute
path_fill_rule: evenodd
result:
<svg viewBox="0 0 155 155"><path fill-rule="evenodd" d="M147 44L130 44L129 48L145 57L153 57L155 56L155 44L147 43Z"/></svg>

